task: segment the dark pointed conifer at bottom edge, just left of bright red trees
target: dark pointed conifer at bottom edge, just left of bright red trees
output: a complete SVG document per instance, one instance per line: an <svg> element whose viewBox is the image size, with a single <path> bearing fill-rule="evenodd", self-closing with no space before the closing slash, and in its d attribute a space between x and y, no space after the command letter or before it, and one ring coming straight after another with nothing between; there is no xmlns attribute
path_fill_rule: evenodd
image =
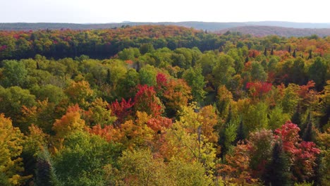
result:
<svg viewBox="0 0 330 186"><path fill-rule="evenodd" d="M267 166L264 181L266 185L291 185L291 173L288 156L282 149L281 142L274 144L271 162Z"/></svg>

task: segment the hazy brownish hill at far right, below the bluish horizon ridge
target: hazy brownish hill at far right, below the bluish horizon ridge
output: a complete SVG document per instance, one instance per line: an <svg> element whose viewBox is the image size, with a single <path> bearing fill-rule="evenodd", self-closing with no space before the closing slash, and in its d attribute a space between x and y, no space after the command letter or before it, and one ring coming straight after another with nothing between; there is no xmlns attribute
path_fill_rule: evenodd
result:
<svg viewBox="0 0 330 186"><path fill-rule="evenodd" d="M224 34L225 32L241 32L255 36L279 35L283 37L304 37L310 35L318 35L324 37L330 35L330 28L292 28L292 27L271 27L271 26L243 26L232 27L229 29L220 30L217 33Z"/></svg>

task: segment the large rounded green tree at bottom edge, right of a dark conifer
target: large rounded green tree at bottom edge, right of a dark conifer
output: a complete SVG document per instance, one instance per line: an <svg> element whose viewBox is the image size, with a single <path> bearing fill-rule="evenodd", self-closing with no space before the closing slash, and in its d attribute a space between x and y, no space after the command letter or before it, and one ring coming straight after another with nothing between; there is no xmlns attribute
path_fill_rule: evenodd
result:
<svg viewBox="0 0 330 186"><path fill-rule="evenodd" d="M54 168L66 185L106 185L104 166L114 165L121 148L96 135L75 132L54 156Z"/></svg>

